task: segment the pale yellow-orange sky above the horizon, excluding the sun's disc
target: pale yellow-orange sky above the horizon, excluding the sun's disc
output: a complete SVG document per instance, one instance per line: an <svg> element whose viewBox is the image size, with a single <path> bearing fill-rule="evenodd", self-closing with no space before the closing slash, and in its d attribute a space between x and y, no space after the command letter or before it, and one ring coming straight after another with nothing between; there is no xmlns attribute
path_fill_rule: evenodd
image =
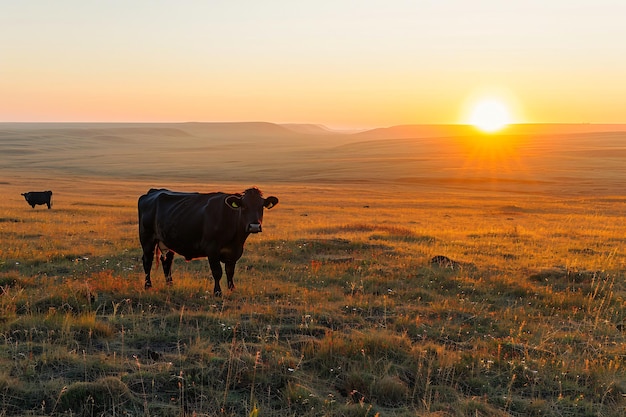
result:
<svg viewBox="0 0 626 417"><path fill-rule="evenodd" d="M8 4L7 4L8 3ZM0 122L626 122L626 2L0 6Z"/></svg>

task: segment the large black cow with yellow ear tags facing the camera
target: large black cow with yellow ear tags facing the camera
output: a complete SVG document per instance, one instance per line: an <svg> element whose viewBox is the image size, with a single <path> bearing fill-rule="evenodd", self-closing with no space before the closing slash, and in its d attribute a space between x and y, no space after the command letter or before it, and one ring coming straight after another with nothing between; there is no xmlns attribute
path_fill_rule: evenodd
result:
<svg viewBox="0 0 626 417"><path fill-rule="evenodd" d="M208 258L215 295L222 293L223 262L228 288L233 290L235 263L243 254L243 245L250 233L261 232L263 208L276 204L276 197L263 198L258 188L249 188L243 194L151 189L138 202L145 288L152 287L150 269L156 251L168 284L172 283L174 253L178 253L186 260Z"/></svg>

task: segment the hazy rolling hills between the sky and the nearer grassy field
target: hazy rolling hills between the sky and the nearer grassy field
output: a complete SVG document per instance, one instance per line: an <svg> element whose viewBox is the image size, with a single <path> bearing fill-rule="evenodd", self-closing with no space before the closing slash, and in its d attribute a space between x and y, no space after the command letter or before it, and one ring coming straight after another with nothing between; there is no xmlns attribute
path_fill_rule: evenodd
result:
<svg viewBox="0 0 626 417"><path fill-rule="evenodd" d="M394 126L346 134L251 123L0 124L11 175L198 182L384 184L611 194L626 185L626 125Z"/></svg>

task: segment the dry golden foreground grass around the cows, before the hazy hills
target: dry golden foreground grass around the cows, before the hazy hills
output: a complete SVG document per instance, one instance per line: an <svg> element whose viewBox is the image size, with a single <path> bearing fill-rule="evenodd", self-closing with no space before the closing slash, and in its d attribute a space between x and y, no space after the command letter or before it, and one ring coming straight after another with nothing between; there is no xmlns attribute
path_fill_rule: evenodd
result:
<svg viewBox="0 0 626 417"><path fill-rule="evenodd" d="M5 415L626 412L617 182L592 192L598 182L568 180L556 194L541 183L215 184L72 169L3 171ZM172 286L156 271L144 290L141 194L250 185L280 204L248 240L235 291L215 298L207 262L180 257ZM20 196L44 188L52 210ZM432 264L437 255L452 262Z"/></svg>

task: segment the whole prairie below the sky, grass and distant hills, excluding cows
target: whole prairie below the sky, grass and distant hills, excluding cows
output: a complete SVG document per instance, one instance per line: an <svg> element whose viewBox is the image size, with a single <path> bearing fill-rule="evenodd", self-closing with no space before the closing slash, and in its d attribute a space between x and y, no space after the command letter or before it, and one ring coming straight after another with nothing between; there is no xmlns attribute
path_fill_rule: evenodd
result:
<svg viewBox="0 0 626 417"><path fill-rule="evenodd" d="M618 125L0 124L0 413L622 416L625 162ZM144 290L141 194L251 185L234 291Z"/></svg>

